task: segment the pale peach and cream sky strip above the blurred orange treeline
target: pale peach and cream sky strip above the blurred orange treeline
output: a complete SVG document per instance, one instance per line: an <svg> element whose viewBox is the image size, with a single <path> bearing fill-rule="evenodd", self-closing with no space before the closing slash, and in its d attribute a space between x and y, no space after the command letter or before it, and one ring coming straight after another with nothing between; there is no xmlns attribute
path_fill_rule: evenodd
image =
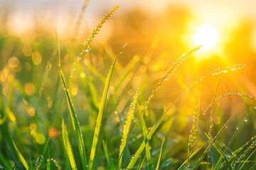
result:
<svg viewBox="0 0 256 170"><path fill-rule="evenodd" d="M38 22L43 23L44 26L48 26L52 30L57 28L61 37L66 35L67 30L72 32L71 25L72 23L75 25L83 3L84 0L0 0L0 11L3 11L4 8L10 9L8 24L11 33L24 35L24 33L29 32L29 28L34 26L34 19L39 18ZM89 0L82 26L86 26L90 30L116 4L121 5L118 11L119 14L129 9L141 8L149 16L161 14L167 6L182 5L192 11L193 15L198 18L198 21L196 21L198 27L209 24L219 30L234 28L240 20L249 19L254 24L252 48L256 52L255 0ZM195 21L192 22L196 23Z"/></svg>

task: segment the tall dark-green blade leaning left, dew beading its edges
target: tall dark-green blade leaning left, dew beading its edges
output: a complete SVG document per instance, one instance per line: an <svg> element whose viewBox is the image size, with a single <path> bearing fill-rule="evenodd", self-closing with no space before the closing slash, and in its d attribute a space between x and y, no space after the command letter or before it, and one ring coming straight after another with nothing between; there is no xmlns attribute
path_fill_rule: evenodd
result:
<svg viewBox="0 0 256 170"><path fill-rule="evenodd" d="M86 154L85 154L85 145L84 145L84 142L83 142L83 139L82 139L82 132L80 130L80 125L78 123L78 117L75 114L75 110L73 108L73 103L71 102L71 99L70 99L70 94L68 92L68 87L65 83L65 78L63 76L63 71L60 67L60 63L58 64L58 70L59 70L59 73L60 73L61 81L62 81L63 86L64 86L65 94L67 96L68 108L70 110L70 115L71 115L73 128L75 130L75 135L76 135L77 140L78 140L78 147L79 147L80 156L81 156L81 159L82 159L82 167L83 167L83 169L87 169L87 159L86 159Z"/></svg>

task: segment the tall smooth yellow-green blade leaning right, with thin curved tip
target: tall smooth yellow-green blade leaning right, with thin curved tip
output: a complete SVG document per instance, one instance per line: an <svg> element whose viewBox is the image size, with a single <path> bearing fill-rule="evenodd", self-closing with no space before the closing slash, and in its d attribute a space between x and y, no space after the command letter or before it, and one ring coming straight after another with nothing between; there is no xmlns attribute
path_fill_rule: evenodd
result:
<svg viewBox="0 0 256 170"><path fill-rule="evenodd" d="M122 48L124 48L125 45ZM122 48L121 48L121 50L122 50ZM95 126L95 134L94 134L93 140L92 140L92 149L91 149L91 152L90 152L90 159L89 159L89 169L92 169L93 161L95 159L97 141L98 141L98 138L99 138L99 135L100 135L100 126L102 124L102 115L103 115L103 111L104 111L105 104L106 104L106 101L107 101L107 92L110 88L110 81L112 79L112 74L113 74L113 71L114 71L114 64L117 61L117 57L119 56L120 53L121 52L117 53L116 57L114 58L114 62L112 64L111 68L110 68L110 72L107 74L107 79L106 79L105 87L104 87L103 94L102 94L102 100L100 102L99 113L97 115L96 126Z"/></svg>

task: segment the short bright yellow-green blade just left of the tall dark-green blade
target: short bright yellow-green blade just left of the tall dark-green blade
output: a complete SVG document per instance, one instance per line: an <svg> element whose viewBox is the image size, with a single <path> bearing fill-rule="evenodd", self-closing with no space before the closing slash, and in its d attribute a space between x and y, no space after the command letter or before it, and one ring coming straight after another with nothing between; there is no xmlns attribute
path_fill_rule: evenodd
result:
<svg viewBox="0 0 256 170"><path fill-rule="evenodd" d="M73 150L70 145L70 140L68 139L68 132L65 130L64 119L63 119L63 142L64 142L65 150L68 154L68 159L70 160L71 169L77 169L76 164L75 164Z"/></svg>

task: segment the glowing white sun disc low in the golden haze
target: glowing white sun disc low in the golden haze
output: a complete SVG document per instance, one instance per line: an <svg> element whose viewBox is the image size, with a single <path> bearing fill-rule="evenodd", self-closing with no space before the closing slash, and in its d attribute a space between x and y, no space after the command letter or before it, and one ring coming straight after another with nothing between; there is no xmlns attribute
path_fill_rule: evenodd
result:
<svg viewBox="0 0 256 170"><path fill-rule="evenodd" d="M202 49L206 50L215 47L218 41L218 34L213 26L203 25L196 30L194 40L196 45L202 45Z"/></svg>

